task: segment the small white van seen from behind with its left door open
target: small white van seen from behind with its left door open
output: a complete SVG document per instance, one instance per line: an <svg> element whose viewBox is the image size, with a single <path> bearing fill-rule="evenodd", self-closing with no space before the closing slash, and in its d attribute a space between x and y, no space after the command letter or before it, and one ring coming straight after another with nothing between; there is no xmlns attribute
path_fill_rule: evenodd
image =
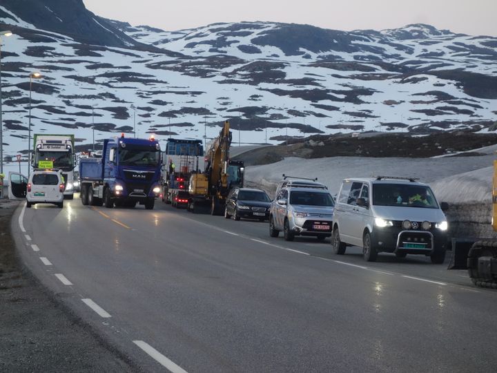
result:
<svg viewBox="0 0 497 373"><path fill-rule="evenodd" d="M26 207L37 203L52 203L64 207L64 180L55 170L35 170L29 179L20 173L9 173L9 198L26 198Z"/></svg>

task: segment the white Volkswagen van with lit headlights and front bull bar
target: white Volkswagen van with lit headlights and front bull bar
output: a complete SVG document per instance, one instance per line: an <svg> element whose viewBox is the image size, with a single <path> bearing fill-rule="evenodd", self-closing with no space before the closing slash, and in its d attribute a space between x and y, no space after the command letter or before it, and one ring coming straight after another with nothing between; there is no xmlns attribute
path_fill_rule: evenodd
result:
<svg viewBox="0 0 497 373"><path fill-rule="evenodd" d="M342 181L333 214L331 245L345 254L362 247L373 262L379 252L430 256L442 263L447 249L446 202L439 204L427 184L413 178L378 176Z"/></svg>

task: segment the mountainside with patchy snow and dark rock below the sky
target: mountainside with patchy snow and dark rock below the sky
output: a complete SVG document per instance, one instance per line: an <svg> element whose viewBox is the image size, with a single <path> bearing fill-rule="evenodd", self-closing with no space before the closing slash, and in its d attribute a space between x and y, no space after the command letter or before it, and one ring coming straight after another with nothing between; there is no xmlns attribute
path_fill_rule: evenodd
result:
<svg viewBox="0 0 497 373"><path fill-rule="evenodd" d="M494 131L495 37L422 24L342 32L242 22L169 32L102 19L81 0L43 2L43 17L19 3L0 5L0 30L14 32L1 50L6 157L28 149L34 71L43 78L32 80L32 133L74 133L81 148L91 147L93 123L98 141L134 128L201 139L230 119L242 144Z"/></svg>

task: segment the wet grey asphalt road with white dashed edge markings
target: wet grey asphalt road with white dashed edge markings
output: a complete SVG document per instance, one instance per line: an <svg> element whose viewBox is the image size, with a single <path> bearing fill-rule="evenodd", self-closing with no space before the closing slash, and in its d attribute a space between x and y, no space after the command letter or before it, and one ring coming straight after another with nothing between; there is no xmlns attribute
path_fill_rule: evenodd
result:
<svg viewBox="0 0 497 373"><path fill-rule="evenodd" d="M497 293L429 258L175 210L36 205L12 219L21 257L144 371L495 371Z"/></svg>

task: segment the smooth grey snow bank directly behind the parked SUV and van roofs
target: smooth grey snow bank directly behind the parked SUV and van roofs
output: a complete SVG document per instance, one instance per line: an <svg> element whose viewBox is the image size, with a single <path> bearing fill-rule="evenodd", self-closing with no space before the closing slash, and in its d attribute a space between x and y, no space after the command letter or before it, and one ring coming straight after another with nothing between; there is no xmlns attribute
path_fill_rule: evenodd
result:
<svg viewBox="0 0 497 373"><path fill-rule="evenodd" d="M438 200L461 202L491 198L494 155L444 158L329 157L313 160L287 157L280 162L246 168L248 185L259 185L274 198L282 174L318 178L334 195L344 178L408 176L430 183ZM478 171L475 171L478 170ZM461 174L462 173L462 174Z"/></svg>

